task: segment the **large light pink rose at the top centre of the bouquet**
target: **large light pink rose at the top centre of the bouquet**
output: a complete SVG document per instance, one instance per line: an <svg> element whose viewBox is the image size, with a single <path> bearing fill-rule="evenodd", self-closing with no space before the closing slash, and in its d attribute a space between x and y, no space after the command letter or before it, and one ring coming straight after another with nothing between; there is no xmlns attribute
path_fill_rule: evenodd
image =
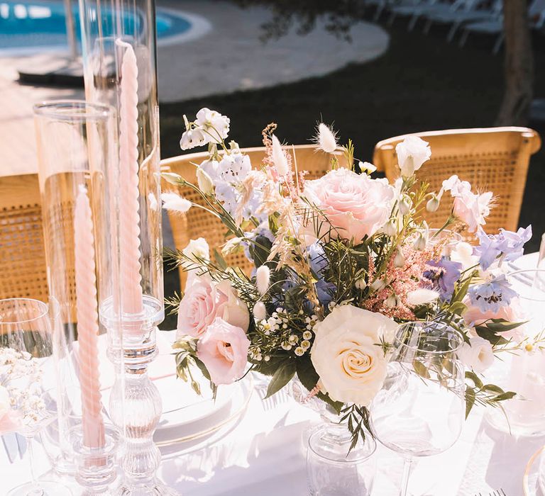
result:
<svg viewBox="0 0 545 496"><path fill-rule="evenodd" d="M304 196L314 203L331 222L331 237L359 242L372 236L390 216L394 188L386 179L370 179L348 169L329 171L325 176L304 184ZM311 227L323 225L321 218L309 221ZM307 226L308 227L308 226ZM326 234L328 227L319 227L316 237Z"/></svg>

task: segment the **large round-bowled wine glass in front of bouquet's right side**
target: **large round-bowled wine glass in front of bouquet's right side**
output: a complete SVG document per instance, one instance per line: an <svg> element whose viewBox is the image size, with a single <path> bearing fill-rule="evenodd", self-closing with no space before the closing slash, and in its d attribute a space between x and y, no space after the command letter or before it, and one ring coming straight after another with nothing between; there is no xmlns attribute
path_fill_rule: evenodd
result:
<svg viewBox="0 0 545 496"><path fill-rule="evenodd" d="M414 456L450 448L465 418L461 334L441 322L407 322L395 336L382 390L370 405L377 439L404 456L400 496L409 493Z"/></svg>

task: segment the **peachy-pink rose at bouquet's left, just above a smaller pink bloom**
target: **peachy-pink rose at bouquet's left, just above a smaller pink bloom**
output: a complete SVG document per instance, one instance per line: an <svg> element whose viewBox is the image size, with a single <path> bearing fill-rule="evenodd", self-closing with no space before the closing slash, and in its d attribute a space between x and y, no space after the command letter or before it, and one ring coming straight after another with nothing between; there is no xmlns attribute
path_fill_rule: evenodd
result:
<svg viewBox="0 0 545 496"><path fill-rule="evenodd" d="M229 281L215 283L209 276L193 276L187 281L178 308L177 337L199 337L216 317L241 327L250 323L250 312L231 287Z"/></svg>

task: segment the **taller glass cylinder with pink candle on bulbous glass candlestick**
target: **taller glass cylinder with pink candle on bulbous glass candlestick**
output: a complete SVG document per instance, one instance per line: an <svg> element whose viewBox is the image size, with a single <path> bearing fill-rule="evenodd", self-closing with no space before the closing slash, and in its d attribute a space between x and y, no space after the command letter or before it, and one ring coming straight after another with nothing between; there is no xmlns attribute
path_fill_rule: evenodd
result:
<svg viewBox="0 0 545 496"><path fill-rule="evenodd" d="M111 259L119 276L116 291L101 298L100 317L109 329L110 359L125 363L109 407L124 436L120 492L175 494L155 477L160 452L152 438L162 405L147 373L164 318L155 4L79 0L79 6L85 93L89 101L114 107L119 129L119 167L110 178L117 192L111 197L117 218Z"/></svg>

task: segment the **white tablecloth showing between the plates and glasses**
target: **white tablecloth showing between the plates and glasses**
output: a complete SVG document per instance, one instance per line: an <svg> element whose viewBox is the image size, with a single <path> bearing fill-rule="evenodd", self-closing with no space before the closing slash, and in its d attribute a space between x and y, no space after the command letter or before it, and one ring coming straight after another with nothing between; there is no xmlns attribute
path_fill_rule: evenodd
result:
<svg viewBox="0 0 545 496"><path fill-rule="evenodd" d="M535 266L535 260L535 255L529 255L518 264ZM545 438L517 439L498 432L483 414L475 407L451 449L418 461L410 485L415 495L485 496L500 488L507 496L523 495L524 468ZM183 496L304 496L303 439L316 420L316 414L287 395L263 402L253 393L235 424L208 439L162 449L160 478ZM38 456L40 468L48 470L43 453L38 451ZM380 445L375 456L378 473L373 495L396 495L402 459ZM0 447L0 492L28 479L26 463L10 464Z"/></svg>

